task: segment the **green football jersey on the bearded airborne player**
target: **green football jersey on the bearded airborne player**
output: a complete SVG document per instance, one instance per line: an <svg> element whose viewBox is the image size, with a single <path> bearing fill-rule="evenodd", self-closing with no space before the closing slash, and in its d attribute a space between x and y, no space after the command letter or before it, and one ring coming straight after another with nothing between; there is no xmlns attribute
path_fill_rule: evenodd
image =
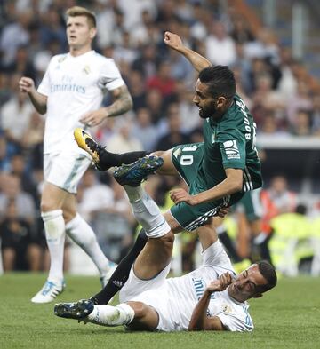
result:
<svg viewBox="0 0 320 349"><path fill-rule="evenodd" d="M234 103L219 120L204 120L204 156L199 183L209 189L226 178L225 169L244 170L243 192L262 186L261 165L255 146L256 124L244 101Z"/></svg>

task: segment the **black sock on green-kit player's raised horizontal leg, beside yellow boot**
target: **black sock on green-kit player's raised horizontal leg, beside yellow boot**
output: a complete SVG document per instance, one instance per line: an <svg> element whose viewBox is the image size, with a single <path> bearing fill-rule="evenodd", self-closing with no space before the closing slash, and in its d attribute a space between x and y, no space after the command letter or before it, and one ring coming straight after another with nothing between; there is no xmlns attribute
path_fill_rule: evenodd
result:
<svg viewBox="0 0 320 349"><path fill-rule="evenodd" d="M108 150L106 149L103 149L99 154L99 167L103 169L103 171L107 171L110 167L121 166L123 163L134 163L140 157L146 156L148 154L149 153L145 151L115 154L108 152Z"/></svg>

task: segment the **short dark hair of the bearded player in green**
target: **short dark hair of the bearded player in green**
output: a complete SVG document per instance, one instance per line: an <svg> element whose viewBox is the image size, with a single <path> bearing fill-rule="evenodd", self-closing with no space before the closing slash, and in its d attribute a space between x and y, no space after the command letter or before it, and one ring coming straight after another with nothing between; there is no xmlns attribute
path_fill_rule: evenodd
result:
<svg viewBox="0 0 320 349"><path fill-rule="evenodd" d="M208 85L213 97L231 99L236 93L236 79L227 66L205 67L199 73L201 83Z"/></svg>

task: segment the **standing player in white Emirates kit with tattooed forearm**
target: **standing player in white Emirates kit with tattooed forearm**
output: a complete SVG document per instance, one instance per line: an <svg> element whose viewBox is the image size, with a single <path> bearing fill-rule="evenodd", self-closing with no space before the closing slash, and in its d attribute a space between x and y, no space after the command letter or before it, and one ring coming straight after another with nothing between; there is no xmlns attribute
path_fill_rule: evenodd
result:
<svg viewBox="0 0 320 349"><path fill-rule="evenodd" d="M132 108L132 98L113 59L92 50L96 32L92 12L78 6L68 9L69 52L52 57L37 91L28 77L22 77L19 83L20 91L28 93L36 111L47 114L41 216L51 266L44 287L31 299L34 303L51 302L65 287L66 233L92 258L103 284L114 269L100 250L91 226L76 212L76 186L92 160L77 147L73 131L83 125L95 126ZM106 90L114 101L101 107Z"/></svg>

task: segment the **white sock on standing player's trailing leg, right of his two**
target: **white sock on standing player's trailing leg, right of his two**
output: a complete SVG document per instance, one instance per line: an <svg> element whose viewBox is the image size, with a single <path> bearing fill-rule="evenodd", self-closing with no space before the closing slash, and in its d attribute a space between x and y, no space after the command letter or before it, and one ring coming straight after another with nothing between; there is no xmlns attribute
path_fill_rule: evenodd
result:
<svg viewBox="0 0 320 349"><path fill-rule="evenodd" d="M76 213L76 217L67 223L66 233L90 258L92 258L99 273L102 276L105 275L108 272L108 258L100 249L97 236L84 218Z"/></svg>

